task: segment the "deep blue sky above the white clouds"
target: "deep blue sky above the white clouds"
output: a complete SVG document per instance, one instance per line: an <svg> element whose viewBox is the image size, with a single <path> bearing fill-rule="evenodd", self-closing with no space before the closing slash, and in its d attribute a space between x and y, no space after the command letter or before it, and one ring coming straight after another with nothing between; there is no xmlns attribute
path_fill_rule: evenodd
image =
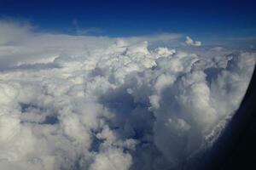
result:
<svg viewBox="0 0 256 170"><path fill-rule="evenodd" d="M247 0L0 0L0 14L29 20L41 31L74 34L79 27L81 32L110 37L176 32L214 42L224 37L252 40L256 36L255 6Z"/></svg>

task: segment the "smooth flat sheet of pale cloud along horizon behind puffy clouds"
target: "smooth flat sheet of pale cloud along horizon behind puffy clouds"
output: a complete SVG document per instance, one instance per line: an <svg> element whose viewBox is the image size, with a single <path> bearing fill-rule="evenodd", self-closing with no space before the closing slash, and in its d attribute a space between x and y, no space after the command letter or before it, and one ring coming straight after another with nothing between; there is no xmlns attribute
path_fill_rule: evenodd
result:
<svg viewBox="0 0 256 170"><path fill-rule="evenodd" d="M75 22L76 23L76 22ZM0 70L23 64L49 63L60 54L88 54L108 48L118 38L34 32L27 23L0 20ZM172 41L178 34L125 37L125 43Z"/></svg>

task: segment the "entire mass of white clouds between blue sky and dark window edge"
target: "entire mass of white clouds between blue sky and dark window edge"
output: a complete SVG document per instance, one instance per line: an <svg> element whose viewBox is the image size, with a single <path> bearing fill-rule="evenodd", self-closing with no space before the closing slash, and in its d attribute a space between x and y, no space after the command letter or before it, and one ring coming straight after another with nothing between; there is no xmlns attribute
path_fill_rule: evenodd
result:
<svg viewBox="0 0 256 170"><path fill-rule="evenodd" d="M0 35L0 169L7 170L179 169L217 139L256 56L148 48L177 35L78 37L6 22Z"/></svg>

